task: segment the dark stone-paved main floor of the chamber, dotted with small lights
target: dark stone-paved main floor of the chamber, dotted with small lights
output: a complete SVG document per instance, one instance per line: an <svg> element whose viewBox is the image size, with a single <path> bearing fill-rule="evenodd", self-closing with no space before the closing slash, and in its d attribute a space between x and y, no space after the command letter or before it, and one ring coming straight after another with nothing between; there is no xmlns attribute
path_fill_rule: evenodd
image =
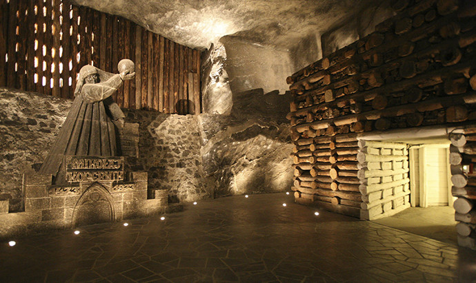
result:
<svg viewBox="0 0 476 283"><path fill-rule="evenodd" d="M287 206L284 207L283 203ZM0 282L472 282L476 251L292 203L284 193L186 205L0 244Z"/></svg>

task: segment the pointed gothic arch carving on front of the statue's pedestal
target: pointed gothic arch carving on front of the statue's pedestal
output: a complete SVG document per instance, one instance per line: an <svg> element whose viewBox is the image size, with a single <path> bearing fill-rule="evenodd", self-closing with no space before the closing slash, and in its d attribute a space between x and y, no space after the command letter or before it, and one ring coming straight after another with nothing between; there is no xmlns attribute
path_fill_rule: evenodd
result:
<svg viewBox="0 0 476 283"><path fill-rule="evenodd" d="M111 222L115 220L113 198L109 191L95 182L79 198L72 216L72 226Z"/></svg>

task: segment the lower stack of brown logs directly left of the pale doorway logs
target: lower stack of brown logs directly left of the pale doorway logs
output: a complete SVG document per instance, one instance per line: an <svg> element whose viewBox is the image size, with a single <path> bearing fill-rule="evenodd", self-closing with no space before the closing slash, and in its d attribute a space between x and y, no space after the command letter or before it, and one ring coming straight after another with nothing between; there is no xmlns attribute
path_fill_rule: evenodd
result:
<svg viewBox="0 0 476 283"><path fill-rule="evenodd" d="M359 217L356 135L319 136L295 143L292 190L296 201Z"/></svg>

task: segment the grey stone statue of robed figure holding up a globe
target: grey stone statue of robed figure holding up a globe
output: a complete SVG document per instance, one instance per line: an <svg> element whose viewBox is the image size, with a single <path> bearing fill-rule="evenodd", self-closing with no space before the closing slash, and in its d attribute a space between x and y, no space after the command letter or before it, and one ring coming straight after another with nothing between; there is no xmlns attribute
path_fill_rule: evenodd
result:
<svg viewBox="0 0 476 283"><path fill-rule="evenodd" d="M50 149L39 173L52 174L54 183L65 181L64 156L118 156L118 139L124 114L113 100L123 81L134 78L134 63L123 59L112 74L85 65L79 71L75 101L56 142Z"/></svg>

